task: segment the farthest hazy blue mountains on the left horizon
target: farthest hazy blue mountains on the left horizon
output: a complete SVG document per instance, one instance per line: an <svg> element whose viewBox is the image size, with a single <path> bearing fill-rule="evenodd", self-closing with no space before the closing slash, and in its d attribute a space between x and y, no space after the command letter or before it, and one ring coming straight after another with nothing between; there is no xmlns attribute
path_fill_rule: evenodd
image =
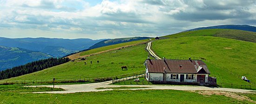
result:
<svg viewBox="0 0 256 104"><path fill-rule="evenodd" d="M19 47L33 51L40 51L54 57L61 57L79 50L88 49L105 39L92 40L87 38L80 39L61 39L61 38L5 38L0 37L0 45L7 47Z"/></svg>

